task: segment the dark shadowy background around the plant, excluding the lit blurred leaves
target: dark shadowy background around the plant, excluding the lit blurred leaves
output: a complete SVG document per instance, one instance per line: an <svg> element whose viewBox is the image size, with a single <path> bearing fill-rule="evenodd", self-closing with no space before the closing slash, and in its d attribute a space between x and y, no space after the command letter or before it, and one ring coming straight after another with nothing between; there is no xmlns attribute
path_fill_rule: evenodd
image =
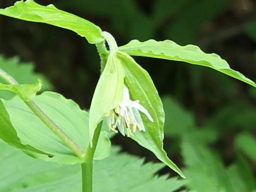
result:
<svg viewBox="0 0 256 192"><path fill-rule="evenodd" d="M0 7L14 2L1 0ZM94 22L113 34L118 45L131 39L146 41L150 38L198 45L207 53L221 55L231 68L255 80L256 2L253 0L36 2L53 3L58 9ZM73 31L0 17L0 53L5 57L18 55L22 61L33 61L36 71L50 79L55 91L72 98L83 108L90 107L99 79L100 60L95 46ZM248 112L256 106L253 88L210 68L151 58L135 60L148 70L161 97L171 95L179 105L191 111L198 127L208 122L216 124L218 139L210 146L218 150L225 164L233 162L236 135L244 130L255 134L255 111ZM237 121L237 117L241 117L241 121ZM168 154L183 166L177 139L168 134L165 138ZM114 138L114 143L121 144L132 154L155 160L147 150L120 135ZM255 171L255 162L251 166Z"/></svg>

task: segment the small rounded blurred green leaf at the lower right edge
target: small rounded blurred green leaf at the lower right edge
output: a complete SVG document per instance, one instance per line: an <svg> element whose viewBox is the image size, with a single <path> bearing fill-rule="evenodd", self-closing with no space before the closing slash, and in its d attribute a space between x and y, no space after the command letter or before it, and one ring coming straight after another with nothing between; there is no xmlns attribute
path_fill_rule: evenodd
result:
<svg viewBox="0 0 256 192"><path fill-rule="evenodd" d="M256 162L256 138L250 133L240 133L236 138L236 146Z"/></svg>

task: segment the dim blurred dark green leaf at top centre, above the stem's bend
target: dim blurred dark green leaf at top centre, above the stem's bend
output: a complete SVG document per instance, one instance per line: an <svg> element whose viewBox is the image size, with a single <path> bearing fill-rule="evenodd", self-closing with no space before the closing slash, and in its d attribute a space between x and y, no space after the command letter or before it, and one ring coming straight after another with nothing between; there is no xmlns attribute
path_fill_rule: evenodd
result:
<svg viewBox="0 0 256 192"><path fill-rule="evenodd" d="M135 0L73 0L62 2L61 5L71 10L78 10L78 12L82 11L107 19L111 23L113 30L123 38L148 39L154 36L156 31L152 18L141 11ZM109 5L111 5L111 9L106 9ZM145 33L145 30L147 33Z"/></svg>

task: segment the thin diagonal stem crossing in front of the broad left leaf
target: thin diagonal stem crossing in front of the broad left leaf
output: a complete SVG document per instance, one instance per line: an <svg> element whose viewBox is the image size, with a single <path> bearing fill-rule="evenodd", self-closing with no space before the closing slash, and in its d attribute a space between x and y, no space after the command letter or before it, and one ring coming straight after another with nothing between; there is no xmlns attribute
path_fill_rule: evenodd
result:
<svg viewBox="0 0 256 192"><path fill-rule="evenodd" d="M19 85L17 81L4 70L0 69L0 77L2 77L6 82L12 85ZM20 97L26 105L34 112L34 114L41 119L41 121L49 127L53 133L55 133L65 144L71 149L77 157L84 159L84 151L65 133L62 129L55 124L50 117L48 117L33 101L26 101L24 98Z"/></svg>

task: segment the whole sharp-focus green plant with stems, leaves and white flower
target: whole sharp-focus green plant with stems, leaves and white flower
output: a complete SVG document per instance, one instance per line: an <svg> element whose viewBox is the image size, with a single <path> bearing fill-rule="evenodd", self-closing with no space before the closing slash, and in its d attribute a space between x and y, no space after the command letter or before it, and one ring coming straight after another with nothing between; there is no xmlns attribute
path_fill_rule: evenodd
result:
<svg viewBox="0 0 256 192"><path fill-rule="evenodd" d="M93 159L109 155L110 141L106 131L101 130L105 119L109 130L137 141L185 178L163 149L165 115L162 101L147 71L131 55L210 67L256 87L249 78L230 69L217 54L204 53L194 45L180 46L169 40L157 42L150 39L146 42L132 40L118 47L111 34L92 22L58 10L53 5L38 5L32 0L19 1L14 6L0 9L0 14L73 30L98 49L101 76L90 113L58 93L36 95L42 86L39 80L34 85L18 84L4 70L0 71L0 76L7 82L1 84L0 89L19 96L0 103L2 140L35 158L57 163L80 163L83 191L92 190ZM24 126L25 123L29 126Z"/></svg>

